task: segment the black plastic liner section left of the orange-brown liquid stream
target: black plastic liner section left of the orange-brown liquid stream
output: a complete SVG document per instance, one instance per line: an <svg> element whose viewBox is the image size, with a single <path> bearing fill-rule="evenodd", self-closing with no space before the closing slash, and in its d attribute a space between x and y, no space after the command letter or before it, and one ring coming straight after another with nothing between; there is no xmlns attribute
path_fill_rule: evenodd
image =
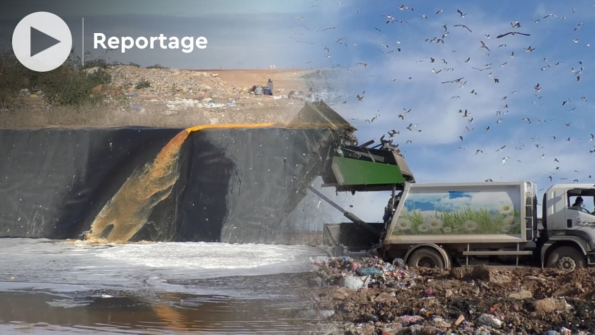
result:
<svg viewBox="0 0 595 335"><path fill-rule="evenodd" d="M0 129L0 236L80 238L180 129Z"/></svg>

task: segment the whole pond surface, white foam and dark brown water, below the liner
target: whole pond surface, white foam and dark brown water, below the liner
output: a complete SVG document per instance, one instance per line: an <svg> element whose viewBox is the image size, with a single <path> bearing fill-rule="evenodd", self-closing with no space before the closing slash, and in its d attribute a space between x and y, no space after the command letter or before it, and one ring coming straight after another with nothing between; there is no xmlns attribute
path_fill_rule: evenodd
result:
<svg viewBox="0 0 595 335"><path fill-rule="evenodd" d="M323 250L0 239L0 334L299 334Z"/></svg>

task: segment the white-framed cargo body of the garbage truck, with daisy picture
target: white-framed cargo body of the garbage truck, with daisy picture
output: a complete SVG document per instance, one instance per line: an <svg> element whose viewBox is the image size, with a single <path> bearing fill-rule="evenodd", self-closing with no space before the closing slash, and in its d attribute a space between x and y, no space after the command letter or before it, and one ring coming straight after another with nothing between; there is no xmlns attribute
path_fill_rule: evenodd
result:
<svg viewBox="0 0 595 335"><path fill-rule="evenodd" d="M384 244L524 243L536 222L531 182L405 184Z"/></svg>

